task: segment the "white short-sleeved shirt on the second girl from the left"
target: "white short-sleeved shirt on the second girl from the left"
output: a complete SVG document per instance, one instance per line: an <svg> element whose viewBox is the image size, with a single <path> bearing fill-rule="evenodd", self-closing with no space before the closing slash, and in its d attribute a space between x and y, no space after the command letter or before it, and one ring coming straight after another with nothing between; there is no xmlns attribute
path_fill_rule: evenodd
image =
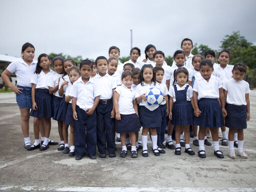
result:
<svg viewBox="0 0 256 192"><path fill-rule="evenodd" d="M55 71L51 70L46 74L41 70L39 74L33 73L30 83L36 84L35 88L47 88L49 89L48 80L53 75Z"/></svg>

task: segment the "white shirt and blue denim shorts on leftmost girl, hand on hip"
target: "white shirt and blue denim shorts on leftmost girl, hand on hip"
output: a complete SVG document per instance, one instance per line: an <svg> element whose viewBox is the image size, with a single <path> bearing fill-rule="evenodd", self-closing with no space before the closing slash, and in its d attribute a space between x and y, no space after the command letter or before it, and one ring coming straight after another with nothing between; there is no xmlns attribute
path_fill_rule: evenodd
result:
<svg viewBox="0 0 256 192"><path fill-rule="evenodd" d="M22 59L19 58L16 61L11 62L7 66L7 70L11 73L15 73L17 77L17 87L22 88L22 93L16 94L16 101L19 108L32 108L31 99L31 76L36 68L36 60L33 60L30 66Z"/></svg>

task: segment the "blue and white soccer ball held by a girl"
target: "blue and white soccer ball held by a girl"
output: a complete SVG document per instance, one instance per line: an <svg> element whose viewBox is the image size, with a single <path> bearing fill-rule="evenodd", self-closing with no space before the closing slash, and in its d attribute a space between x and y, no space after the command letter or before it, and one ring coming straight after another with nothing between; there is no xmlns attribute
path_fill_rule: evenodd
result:
<svg viewBox="0 0 256 192"><path fill-rule="evenodd" d="M163 94L162 91L157 87L149 88L146 93L146 102L149 106L157 106L162 102Z"/></svg>

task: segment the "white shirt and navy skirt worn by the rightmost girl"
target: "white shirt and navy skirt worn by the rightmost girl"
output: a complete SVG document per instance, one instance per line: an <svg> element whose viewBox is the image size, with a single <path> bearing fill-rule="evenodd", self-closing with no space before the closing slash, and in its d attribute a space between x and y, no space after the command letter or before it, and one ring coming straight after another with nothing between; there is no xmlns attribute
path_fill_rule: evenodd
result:
<svg viewBox="0 0 256 192"><path fill-rule="evenodd" d="M249 83L245 80L227 80L223 84L223 89L227 91L225 126L229 128L244 129L246 122L246 100L245 94L250 92Z"/></svg>

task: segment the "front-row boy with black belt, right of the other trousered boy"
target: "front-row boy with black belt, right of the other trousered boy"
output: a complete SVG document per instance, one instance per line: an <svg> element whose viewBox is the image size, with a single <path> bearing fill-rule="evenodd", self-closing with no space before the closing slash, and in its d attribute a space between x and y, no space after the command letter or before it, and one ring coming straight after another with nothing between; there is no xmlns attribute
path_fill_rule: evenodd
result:
<svg viewBox="0 0 256 192"><path fill-rule="evenodd" d="M96 85L99 87L99 103L96 107L97 116L97 147L99 157L106 157L106 148L109 157L115 157L115 143L113 134L114 107L112 101L116 80L106 73L107 59L98 56L95 60L98 74L95 76Z"/></svg>

